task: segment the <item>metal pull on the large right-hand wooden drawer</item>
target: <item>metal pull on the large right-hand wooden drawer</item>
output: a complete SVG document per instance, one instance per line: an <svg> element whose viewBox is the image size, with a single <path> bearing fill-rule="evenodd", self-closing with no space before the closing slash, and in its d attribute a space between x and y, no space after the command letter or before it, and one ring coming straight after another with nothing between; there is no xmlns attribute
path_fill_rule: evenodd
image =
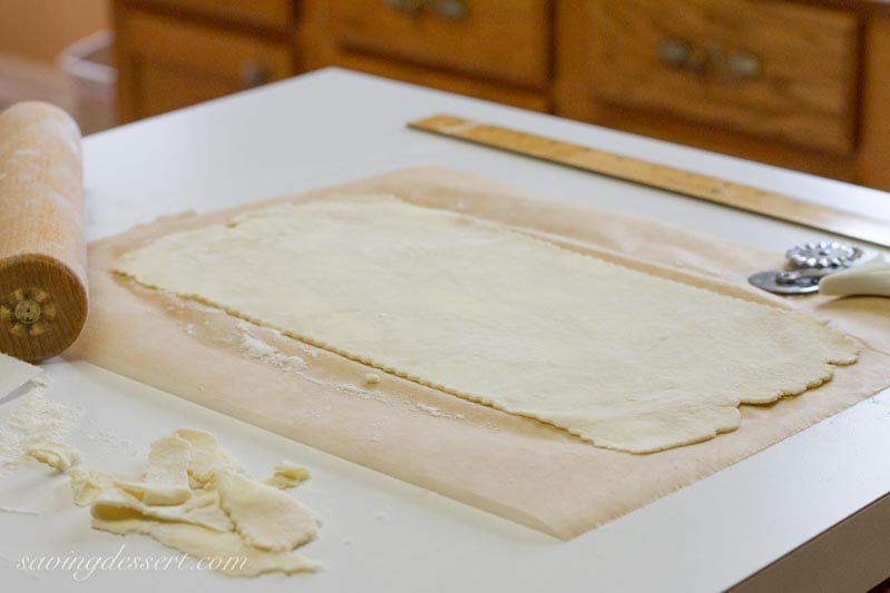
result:
<svg viewBox="0 0 890 593"><path fill-rule="evenodd" d="M669 38L655 49L658 61L672 68L683 68L695 76L717 70L736 78L757 78L763 73L761 59L745 50L727 53L720 46L693 46L685 39Z"/></svg>

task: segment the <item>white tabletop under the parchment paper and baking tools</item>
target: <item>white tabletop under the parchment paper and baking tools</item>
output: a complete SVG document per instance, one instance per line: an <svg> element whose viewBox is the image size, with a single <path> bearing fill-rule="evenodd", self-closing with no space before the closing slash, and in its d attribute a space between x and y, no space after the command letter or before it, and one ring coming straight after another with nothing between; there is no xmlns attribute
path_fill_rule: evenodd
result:
<svg viewBox="0 0 890 593"><path fill-rule="evenodd" d="M215 210L436 164L776 251L824 236L405 129L405 121L434 112L851 209L886 210L890 205L886 194L838 181L329 69L87 138L88 235L105 237L188 208ZM146 537L91 530L88 512L66 500L67 478L45 474L18 477L13 486L33 501L55 497L55 512L0 513L3 591L715 591L743 581L890 492L890 391L602 528L560 542L91 365L53 360L47 369L55 379L51 398L82 406L92 428L126 435L140 458L151 439L193 426L216 434L256 475L281 458L307 465L313 478L297 488L297 496L324 516L325 525L303 552L329 570L251 583L194 570L97 572L80 583L65 571L16 570L22 555L107 555L121 543L126 554L168 553ZM85 465L137 466L131 453L89 438L87 431L72 442L82 449Z"/></svg>

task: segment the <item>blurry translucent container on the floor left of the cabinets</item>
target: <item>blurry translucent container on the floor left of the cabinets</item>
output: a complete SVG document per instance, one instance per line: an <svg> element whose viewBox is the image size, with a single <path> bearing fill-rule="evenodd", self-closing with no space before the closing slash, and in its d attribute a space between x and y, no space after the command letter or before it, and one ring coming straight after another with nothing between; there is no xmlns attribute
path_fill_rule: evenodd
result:
<svg viewBox="0 0 890 593"><path fill-rule="evenodd" d="M59 56L59 68L71 82L75 119L87 135L116 123L114 33L99 31L68 46Z"/></svg>

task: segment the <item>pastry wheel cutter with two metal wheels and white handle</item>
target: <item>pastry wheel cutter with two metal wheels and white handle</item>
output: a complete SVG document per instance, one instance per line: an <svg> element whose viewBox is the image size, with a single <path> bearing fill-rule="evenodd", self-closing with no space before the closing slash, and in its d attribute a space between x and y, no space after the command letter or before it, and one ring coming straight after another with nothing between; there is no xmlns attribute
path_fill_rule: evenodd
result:
<svg viewBox="0 0 890 593"><path fill-rule="evenodd" d="M776 295L822 294L890 297L890 261L839 241L808 243L785 253L785 269L759 271L747 281Z"/></svg>

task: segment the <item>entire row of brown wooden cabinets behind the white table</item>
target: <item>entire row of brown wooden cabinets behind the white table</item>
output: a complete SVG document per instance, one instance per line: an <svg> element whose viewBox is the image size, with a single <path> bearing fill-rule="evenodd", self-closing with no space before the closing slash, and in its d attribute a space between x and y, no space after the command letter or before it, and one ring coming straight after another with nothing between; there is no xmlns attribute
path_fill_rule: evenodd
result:
<svg viewBox="0 0 890 593"><path fill-rule="evenodd" d="M116 0L129 121L324 66L890 189L881 0Z"/></svg>

